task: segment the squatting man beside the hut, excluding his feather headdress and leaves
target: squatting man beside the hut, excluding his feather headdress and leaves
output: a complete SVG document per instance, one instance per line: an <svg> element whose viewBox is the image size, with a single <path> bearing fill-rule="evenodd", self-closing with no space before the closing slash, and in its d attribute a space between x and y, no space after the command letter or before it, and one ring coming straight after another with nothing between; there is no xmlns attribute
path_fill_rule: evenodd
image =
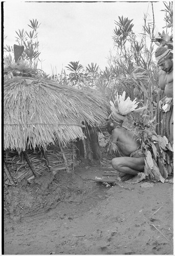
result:
<svg viewBox="0 0 175 256"><path fill-rule="evenodd" d="M116 117L118 115L118 118ZM140 149L137 138L132 132L122 127L124 116L115 114L108 120L108 133L112 134L112 142L117 144L121 157L112 159L112 166L120 172L122 181L138 183L145 178L145 155Z"/></svg>

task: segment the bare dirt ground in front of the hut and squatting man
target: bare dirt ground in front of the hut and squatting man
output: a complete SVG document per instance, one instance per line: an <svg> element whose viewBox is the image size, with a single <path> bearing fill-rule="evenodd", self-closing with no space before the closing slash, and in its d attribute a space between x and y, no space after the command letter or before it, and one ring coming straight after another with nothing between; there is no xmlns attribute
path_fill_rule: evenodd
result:
<svg viewBox="0 0 175 256"><path fill-rule="evenodd" d="M4 253L173 254L173 185L118 181L107 161L9 186Z"/></svg>

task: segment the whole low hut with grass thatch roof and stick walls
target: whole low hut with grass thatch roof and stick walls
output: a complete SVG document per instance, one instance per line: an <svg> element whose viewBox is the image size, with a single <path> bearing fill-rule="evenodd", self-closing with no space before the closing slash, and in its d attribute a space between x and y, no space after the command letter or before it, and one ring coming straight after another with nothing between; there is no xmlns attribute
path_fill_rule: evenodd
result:
<svg viewBox="0 0 175 256"><path fill-rule="evenodd" d="M75 158L100 158L95 127L107 118L98 96L36 77L4 81L5 183L49 170L73 169Z"/></svg>

